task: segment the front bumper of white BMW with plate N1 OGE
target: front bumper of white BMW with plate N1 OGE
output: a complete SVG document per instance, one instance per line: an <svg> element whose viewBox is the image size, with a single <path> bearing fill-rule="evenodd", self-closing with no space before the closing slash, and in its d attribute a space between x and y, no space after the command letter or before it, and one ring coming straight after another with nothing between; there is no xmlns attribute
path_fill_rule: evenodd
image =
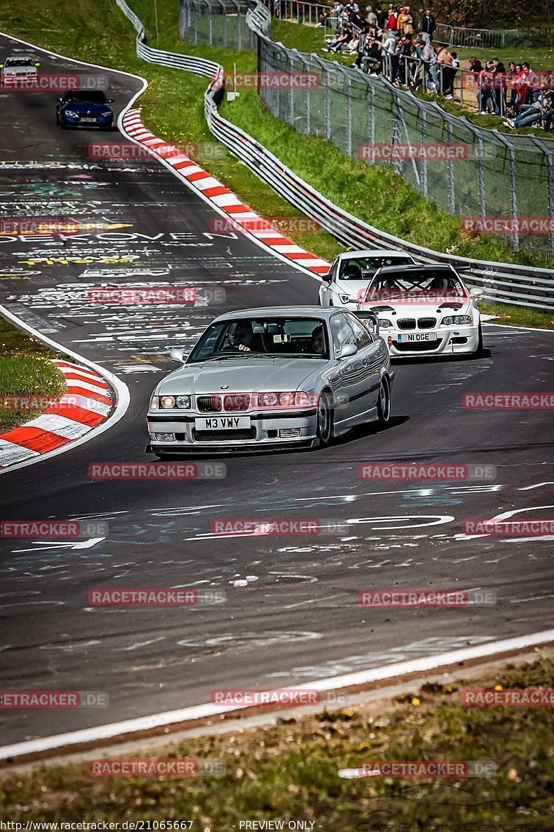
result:
<svg viewBox="0 0 554 832"><path fill-rule="evenodd" d="M379 334L385 339L389 354L393 358L471 354L478 349L479 343L477 324L441 326L436 329L380 329ZM430 341L408 340L409 335L422 334L435 335L436 339Z"/></svg>

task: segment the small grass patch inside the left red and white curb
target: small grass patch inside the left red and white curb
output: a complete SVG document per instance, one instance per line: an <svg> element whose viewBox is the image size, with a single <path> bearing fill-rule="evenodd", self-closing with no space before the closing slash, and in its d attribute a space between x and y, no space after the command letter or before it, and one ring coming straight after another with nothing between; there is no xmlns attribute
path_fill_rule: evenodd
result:
<svg viewBox="0 0 554 832"><path fill-rule="evenodd" d="M66 389L63 373L50 363L50 359L61 358L61 354L49 349L32 335L12 326L0 318L0 433L17 425L37 418L50 407L48 401L57 399ZM18 408L17 399L32 396L31 404L46 398L42 408Z"/></svg>

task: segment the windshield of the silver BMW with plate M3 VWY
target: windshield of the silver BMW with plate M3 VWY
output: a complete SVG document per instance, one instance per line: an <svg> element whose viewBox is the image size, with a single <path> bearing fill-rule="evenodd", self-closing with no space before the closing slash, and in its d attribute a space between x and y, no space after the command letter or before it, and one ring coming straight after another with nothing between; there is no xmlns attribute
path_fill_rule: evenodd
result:
<svg viewBox="0 0 554 832"><path fill-rule="evenodd" d="M219 321L203 334L187 364L249 355L329 358L326 327L316 318L241 318Z"/></svg>

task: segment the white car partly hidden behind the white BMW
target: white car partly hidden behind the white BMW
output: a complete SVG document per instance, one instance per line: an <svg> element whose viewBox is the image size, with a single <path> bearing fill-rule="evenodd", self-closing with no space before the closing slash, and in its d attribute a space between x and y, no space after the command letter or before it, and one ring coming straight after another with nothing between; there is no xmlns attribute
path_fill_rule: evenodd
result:
<svg viewBox="0 0 554 832"><path fill-rule="evenodd" d="M409 265L414 258L405 251L360 249L344 251L322 275L320 306L344 306L355 310L375 272L387 265Z"/></svg>

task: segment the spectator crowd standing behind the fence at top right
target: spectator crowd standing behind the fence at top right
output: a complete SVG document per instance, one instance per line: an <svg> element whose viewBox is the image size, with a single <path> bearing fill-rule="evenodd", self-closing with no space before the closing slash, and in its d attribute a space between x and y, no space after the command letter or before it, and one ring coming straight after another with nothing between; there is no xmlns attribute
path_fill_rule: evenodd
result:
<svg viewBox="0 0 554 832"><path fill-rule="evenodd" d="M503 116L510 129L554 129L554 73L539 78L528 62L510 62L507 71L496 57L484 67L472 57L469 70L462 70L457 52L433 45L437 22L429 8L419 8L414 16L409 6L399 9L391 2L387 8L366 6L362 14L355 0L334 0L316 25L335 30L323 52L351 54L353 67L382 74L396 87L452 99L459 73L462 86L476 92L479 113Z"/></svg>

